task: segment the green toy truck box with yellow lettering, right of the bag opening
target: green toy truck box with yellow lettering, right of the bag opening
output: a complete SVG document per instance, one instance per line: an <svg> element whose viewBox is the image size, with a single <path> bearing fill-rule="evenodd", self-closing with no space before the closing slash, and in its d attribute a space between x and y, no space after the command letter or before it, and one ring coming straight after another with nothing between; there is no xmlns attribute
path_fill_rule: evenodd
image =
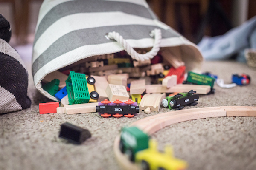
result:
<svg viewBox="0 0 256 170"><path fill-rule="evenodd" d="M215 89L213 88L214 82L215 78L212 78L204 74L197 74L193 73L192 71L189 71L188 77L186 81L183 82L183 84L210 85L211 91L209 92L209 94L213 94L215 92Z"/></svg>

